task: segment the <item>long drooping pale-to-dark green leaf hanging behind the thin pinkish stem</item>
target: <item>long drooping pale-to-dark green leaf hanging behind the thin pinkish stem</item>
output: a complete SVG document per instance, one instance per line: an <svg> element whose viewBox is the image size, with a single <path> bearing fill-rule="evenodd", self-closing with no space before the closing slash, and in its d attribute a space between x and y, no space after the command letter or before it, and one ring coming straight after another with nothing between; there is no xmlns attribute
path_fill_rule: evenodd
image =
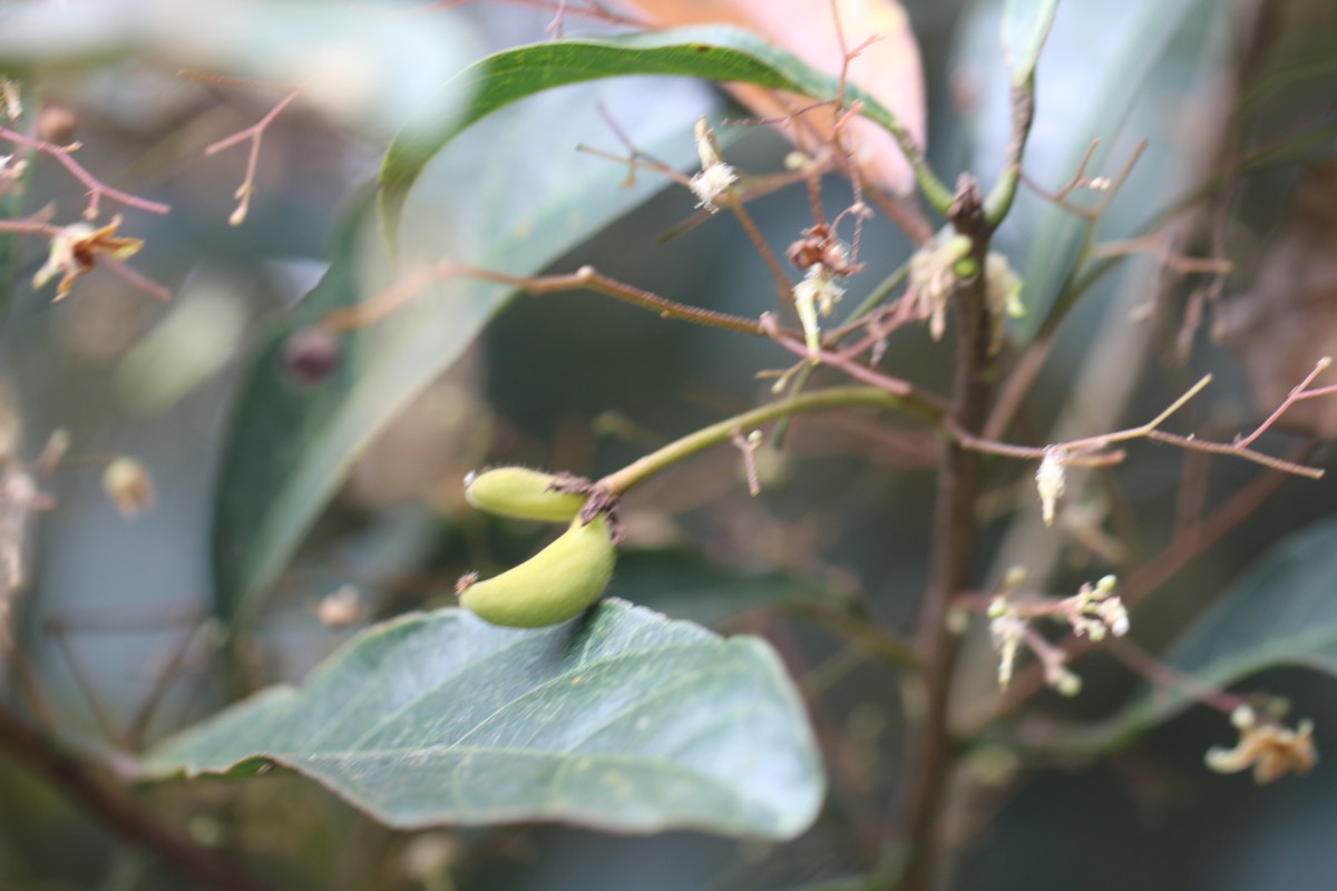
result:
<svg viewBox="0 0 1337 891"><path fill-rule="evenodd" d="M404 266L449 256L533 274L644 200L662 180L640 176L626 188L624 168L575 147L608 132L602 104L640 148L687 164L695 156L691 124L710 99L687 92L686 83L646 87L608 81L563 91L472 127L437 156L405 208ZM328 378L294 386L289 338L394 279L370 203L369 192L353 202L329 273L266 337L238 395L214 526L218 612L230 628L259 605L361 450L509 295L464 279L427 289L384 322L344 335L341 362Z"/></svg>

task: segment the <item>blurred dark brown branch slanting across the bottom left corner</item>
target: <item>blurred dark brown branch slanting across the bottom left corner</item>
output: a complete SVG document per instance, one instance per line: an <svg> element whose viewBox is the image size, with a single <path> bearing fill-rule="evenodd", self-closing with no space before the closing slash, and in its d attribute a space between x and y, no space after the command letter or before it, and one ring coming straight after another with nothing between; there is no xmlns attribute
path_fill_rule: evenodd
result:
<svg viewBox="0 0 1337 891"><path fill-rule="evenodd" d="M59 789L114 836L156 854L199 887L211 891L270 891L269 884L226 855L201 846L175 827L159 823L123 789L4 705L0 705L0 752L7 752L29 775Z"/></svg>

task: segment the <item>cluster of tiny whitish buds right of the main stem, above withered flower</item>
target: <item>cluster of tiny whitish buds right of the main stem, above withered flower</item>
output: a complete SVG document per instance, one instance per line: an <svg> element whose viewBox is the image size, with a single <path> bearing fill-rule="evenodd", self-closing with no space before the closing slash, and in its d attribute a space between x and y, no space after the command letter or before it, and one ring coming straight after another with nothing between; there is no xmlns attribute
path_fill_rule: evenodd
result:
<svg viewBox="0 0 1337 891"><path fill-rule="evenodd" d="M1017 598L1013 592L1025 581L1025 573L1013 569L988 606L989 636L999 652L999 687L1012 683L1016 657L1025 645L1044 667L1044 683L1064 696L1076 696L1082 679L1067 667L1067 653L1044 639L1032 620L1047 617L1066 622L1076 637L1104 640L1108 635L1128 633L1128 610L1115 596L1118 580L1104 576L1094 585L1084 584L1076 594L1059 600Z"/></svg>

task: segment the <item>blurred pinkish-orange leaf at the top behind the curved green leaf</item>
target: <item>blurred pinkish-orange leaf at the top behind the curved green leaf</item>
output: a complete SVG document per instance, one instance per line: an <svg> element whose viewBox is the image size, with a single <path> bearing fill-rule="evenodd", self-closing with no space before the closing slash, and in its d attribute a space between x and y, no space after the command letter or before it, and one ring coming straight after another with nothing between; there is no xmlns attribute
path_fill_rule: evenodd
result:
<svg viewBox="0 0 1337 891"><path fill-rule="evenodd" d="M731 24L755 31L828 73L840 73L845 53L857 48L849 60L850 81L886 106L915 144L925 147L928 122L919 41L897 0L630 0L628 5L664 28ZM793 110L793 103L786 106L774 92L754 84L733 84L729 91L758 118L782 119ZM802 144L830 140L836 122L829 110L809 111L801 122L806 134ZM782 132L793 138L793 128L786 126ZM860 159L865 186L896 194L915 187L905 154L886 131L872 122L852 120L844 135Z"/></svg>

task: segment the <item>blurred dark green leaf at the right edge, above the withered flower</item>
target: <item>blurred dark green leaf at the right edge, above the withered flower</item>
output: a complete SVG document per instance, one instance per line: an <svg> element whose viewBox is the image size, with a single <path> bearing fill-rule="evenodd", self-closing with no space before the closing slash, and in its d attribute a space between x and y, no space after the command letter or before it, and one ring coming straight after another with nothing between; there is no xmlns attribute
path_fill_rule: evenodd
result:
<svg viewBox="0 0 1337 891"><path fill-rule="evenodd" d="M1337 675L1337 520L1273 548L1198 617L1163 660L1221 688L1280 665ZM1102 736L1123 743L1191 703L1179 688L1157 688Z"/></svg>

